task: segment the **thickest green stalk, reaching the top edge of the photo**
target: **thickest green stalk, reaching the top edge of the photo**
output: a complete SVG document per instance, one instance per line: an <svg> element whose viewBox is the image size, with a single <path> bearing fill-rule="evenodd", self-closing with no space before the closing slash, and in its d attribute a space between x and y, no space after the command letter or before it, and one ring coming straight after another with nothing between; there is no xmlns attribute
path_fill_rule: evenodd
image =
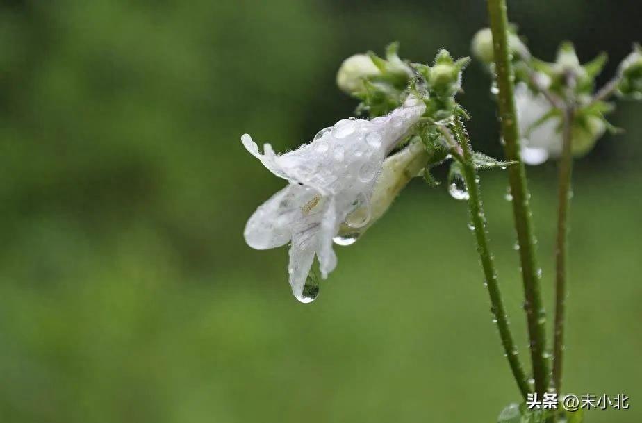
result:
<svg viewBox="0 0 642 423"><path fill-rule="evenodd" d="M513 95L513 67L509 57L508 18L505 0L488 0L488 16L493 33L493 53L497 74L497 99L502 121L504 154L507 160L516 160L517 165L509 167L509 183L513 196L513 219L520 247L520 262L524 283L525 304L529 345L533 364L535 390L543 394L548 388L550 374L548 359L545 357L545 310L540 288L540 270L535 255L529 192L526 170L520 156L520 136L517 124L515 98Z"/></svg>

